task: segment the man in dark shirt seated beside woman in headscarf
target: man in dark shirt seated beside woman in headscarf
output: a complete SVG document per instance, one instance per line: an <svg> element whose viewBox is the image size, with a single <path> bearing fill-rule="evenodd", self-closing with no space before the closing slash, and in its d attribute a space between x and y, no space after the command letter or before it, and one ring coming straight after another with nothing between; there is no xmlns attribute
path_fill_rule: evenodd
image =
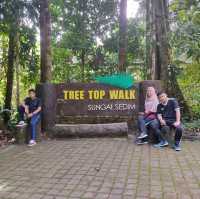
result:
<svg viewBox="0 0 200 199"><path fill-rule="evenodd" d="M157 117L160 122L160 133L156 131L159 143L154 145L155 147L164 147L168 145L168 142L164 139L164 135L169 134L171 129L175 129L175 143L173 148L176 151L180 151L180 141L182 137L182 125L181 114L178 102L175 99L167 97L165 92L158 94L160 104L157 107Z"/></svg>

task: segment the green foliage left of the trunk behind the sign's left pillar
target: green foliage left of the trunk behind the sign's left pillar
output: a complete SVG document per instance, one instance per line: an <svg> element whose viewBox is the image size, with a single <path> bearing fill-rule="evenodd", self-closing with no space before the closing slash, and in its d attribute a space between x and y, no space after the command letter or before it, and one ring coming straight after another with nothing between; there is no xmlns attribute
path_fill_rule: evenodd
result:
<svg viewBox="0 0 200 199"><path fill-rule="evenodd" d="M39 48L37 45L37 25L39 19L38 0L6 0L0 2L0 103L3 103L6 71L8 65L8 35L10 31L19 33L20 95L24 97L26 89L38 82ZM13 86L15 102L16 80ZM14 104L14 103L13 103Z"/></svg>

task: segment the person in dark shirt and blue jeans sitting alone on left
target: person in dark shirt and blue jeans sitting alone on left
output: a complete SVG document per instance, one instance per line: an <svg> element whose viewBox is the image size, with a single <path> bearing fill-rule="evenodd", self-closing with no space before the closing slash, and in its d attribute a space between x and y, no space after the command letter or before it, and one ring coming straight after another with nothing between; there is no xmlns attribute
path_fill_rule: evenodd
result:
<svg viewBox="0 0 200 199"><path fill-rule="evenodd" d="M31 140L29 141L29 145L36 144L36 126L41 118L41 100L36 97L36 93L34 89L30 89L28 91L29 97L27 97L23 104L19 107L19 119L20 122L18 125L24 125L24 116L28 118L31 127Z"/></svg>

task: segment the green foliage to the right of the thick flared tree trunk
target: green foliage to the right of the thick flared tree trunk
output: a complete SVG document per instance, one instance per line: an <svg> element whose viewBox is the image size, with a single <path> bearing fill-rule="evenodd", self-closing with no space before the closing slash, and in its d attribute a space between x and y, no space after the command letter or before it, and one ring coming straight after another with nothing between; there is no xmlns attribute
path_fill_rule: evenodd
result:
<svg viewBox="0 0 200 199"><path fill-rule="evenodd" d="M178 82L194 118L200 117L200 4L173 0L171 47Z"/></svg>

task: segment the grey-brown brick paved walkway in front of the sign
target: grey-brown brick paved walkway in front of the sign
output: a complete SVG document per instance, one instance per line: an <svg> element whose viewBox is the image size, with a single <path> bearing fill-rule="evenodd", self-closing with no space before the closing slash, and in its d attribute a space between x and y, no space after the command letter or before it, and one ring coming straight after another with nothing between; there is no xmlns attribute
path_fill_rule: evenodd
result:
<svg viewBox="0 0 200 199"><path fill-rule="evenodd" d="M182 148L125 138L10 146L0 149L0 199L199 199L200 142Z"/></svg>

